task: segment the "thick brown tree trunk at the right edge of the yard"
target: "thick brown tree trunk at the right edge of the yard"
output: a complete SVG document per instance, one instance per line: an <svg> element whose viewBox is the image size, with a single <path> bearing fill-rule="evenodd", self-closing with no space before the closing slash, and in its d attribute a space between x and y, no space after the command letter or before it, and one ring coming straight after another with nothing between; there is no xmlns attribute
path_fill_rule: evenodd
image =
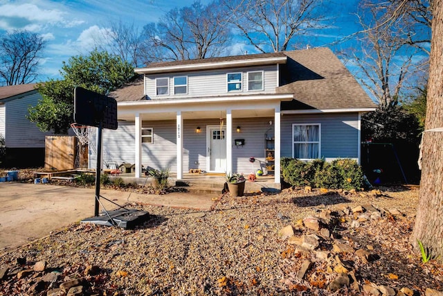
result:
<svg viewBox="0 0 443 296"><path fill-rule="evenodd" d="M411 243L443 261L443 0L434 0L422 181Z"/></svg>

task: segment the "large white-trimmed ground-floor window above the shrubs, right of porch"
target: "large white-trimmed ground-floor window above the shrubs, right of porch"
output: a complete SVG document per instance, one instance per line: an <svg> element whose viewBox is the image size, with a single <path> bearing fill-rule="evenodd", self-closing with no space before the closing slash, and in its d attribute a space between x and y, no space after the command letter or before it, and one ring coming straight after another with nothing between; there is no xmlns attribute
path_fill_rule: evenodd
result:
<svg viewBox="0 0 443 296"><path fill-rule="evenodd" d="M320 158L321 125L293 123L292 157L297 159Z"/></svg>

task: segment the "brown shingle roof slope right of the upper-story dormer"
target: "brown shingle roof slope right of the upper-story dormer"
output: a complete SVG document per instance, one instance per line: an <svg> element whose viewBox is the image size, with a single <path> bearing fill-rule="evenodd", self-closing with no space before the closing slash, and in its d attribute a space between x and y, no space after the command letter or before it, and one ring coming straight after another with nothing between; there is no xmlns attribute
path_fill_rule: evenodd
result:
<svg viewBox="0 0 443 296"><path fill-rule="evenodd" d="M305 49L285 54L289 59L280 69L286 80L281 81L282 86L277 87L276 92L293 94L296 101L283 103L283 110L376 107L330 49Z"/></svg>

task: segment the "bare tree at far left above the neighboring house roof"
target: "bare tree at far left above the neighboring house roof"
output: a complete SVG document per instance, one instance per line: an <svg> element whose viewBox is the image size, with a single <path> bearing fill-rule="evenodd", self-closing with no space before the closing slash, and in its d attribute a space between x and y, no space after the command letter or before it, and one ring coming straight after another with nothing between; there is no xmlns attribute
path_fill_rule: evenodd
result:
<svg viewBox="0 0 443 296"><path fill-rule="evenodd" d="M42 36L14 31L0 39L0 78L6 85L21 85L37 78L41 54L46 46Z"/></svg>

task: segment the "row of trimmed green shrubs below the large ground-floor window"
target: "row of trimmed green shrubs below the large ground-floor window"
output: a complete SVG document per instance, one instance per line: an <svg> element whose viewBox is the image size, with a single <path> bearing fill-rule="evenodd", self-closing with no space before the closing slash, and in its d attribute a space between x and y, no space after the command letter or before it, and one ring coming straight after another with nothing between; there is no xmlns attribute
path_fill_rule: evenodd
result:
<svg viewBox="0 0 443 296"><path fill-rule="evenodd" d="M349 190L360 189L363 184L363 171L353 159L336 159L329 163L324 159L302 162L284 157L281 166L284 182L292 186Z"/></svg>

